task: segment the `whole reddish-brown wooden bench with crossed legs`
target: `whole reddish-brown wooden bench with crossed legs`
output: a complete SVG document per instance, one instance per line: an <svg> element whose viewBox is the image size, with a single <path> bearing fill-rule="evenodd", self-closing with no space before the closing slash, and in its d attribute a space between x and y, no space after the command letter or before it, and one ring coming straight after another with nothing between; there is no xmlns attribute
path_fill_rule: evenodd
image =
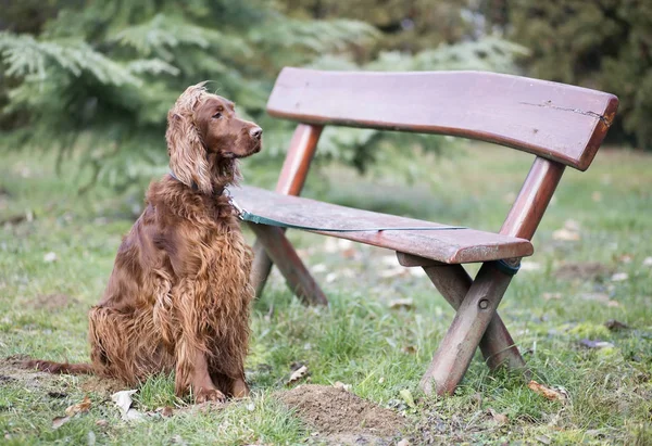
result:
<svg viewBox="0 0 652 446"><path fill-rule="evenodd" d="M489 367L525 370L496 309L532 254L537 226L566 166L586 170L613 120L613 94L524 77L478 72L340 73L285 68L267 112L299 123L276 191L233 191L247 211L299 226L368 228L438 226L302 199L304 180L326 125L451 135L532 153L534 164L499 232L473 229L319 232L397 252L423 267L457 310L421 381L429 394L452 394L479 346ZM283 229L250 225L256 235L252 281L260 294L272 262L304 302L327 304ZM462 264L482 263L475 279Z"/></svg>

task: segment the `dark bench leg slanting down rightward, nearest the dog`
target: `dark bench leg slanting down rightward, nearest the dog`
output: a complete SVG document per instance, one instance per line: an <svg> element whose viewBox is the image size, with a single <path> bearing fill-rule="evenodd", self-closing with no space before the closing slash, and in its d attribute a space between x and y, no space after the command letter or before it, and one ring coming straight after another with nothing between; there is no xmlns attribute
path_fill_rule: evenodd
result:
<svg viewBox="0 0 652 446"><path fill-rule="evenodd" d="M297 297L305 304L328 305L326 295L299 258L283 229L265 225L248 225L260 244L264 246L265 257L268 256L278 267Z"/></svg>

